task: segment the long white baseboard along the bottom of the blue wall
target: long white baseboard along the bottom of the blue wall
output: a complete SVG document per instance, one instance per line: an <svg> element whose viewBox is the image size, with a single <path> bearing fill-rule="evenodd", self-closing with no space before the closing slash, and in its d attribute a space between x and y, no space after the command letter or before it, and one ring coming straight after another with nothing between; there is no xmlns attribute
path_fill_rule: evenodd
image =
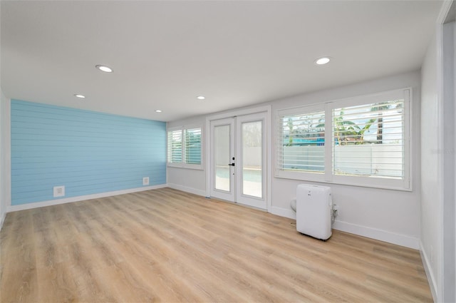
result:
<svg viewBox="0 0 456 303"><path fill-rule="evenodd" d="M166 188L166 187L167 187L166 184L161 184L161 185L154 185L154 186L145 186L142 188L130 188L128 190L115 190L113 192L100 192L98 194L93 194L93 195L80 195L77 197L66 197L63 199L48 200L48 201L42 201L42 202L33 202L33 203L27 203L27 204L21 204L21 205L10 205L9 207L6 208L6 212L16 212L18 210L30 210L32 208L45 207L45 206L58 205L58 204L71 203L71 202L78 202L78 201L90 200L90 199L98 199L100 197L111 197L113 195L123 195L123 194L128 194L131 192L142 192L145 190L155 190L157 188Z"/></svg>

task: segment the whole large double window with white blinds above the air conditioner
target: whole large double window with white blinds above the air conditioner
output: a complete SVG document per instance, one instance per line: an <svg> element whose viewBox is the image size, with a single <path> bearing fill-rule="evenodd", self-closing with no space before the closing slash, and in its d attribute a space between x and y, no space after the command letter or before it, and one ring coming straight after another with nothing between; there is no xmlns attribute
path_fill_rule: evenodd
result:
<svg viewBox="0 0 456 303"><path fill-rule="evenodd" d="M278 111L276 177L410 190L409 95Z"/></svg>

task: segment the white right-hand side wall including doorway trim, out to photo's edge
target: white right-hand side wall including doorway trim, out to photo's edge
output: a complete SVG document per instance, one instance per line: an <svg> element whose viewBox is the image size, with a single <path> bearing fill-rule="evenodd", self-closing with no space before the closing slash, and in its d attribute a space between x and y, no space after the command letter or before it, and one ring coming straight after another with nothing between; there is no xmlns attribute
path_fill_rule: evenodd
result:
<svg viewBox="0 0 456 303"><path fill-rule="evenodd" d="M443 23L421 70L420 249L435 302L456 302L456 30L454 21Z"/></svg>

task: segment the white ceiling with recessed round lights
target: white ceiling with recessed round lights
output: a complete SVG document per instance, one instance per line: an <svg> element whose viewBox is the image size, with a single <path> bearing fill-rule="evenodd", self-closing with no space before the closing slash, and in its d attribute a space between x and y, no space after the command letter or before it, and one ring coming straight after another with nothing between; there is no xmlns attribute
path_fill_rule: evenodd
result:
<svg viewBox="0 0 456 303"><path fill-rule="evenodd" d="M8 98L177 120L418 70L441 5L1 1L1 88ZM316 66L320 56L333 60Z"/></svg>

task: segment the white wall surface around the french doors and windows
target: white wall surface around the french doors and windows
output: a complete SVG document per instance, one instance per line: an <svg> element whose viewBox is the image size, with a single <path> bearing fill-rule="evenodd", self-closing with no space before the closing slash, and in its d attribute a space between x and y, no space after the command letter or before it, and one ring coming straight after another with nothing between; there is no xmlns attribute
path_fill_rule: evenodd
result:
<svg viewBox="0 0 456 303"><path fill-rule="evenodd" d="M284 98L258 106L271 105L272 129L276 129L275 113L284 108L292 108L311 103L337 100L353 96L390 91L398 88L411 87L413 90L413 191L380 190L356 186L330 185L333 199L339 205L339 216L334 227L358 235L373 237L378 240L393 242L407 247L419 246L420 217L420 73L412 72L396 76L357 83L351 86L332 88L301 96ZM249 106L253 108L254 106ZM239 110L239 109L237 109ZM233 110L233 111L237 111ZM225 111L227 113L229 111ZM199 116L188 120L173 121L168 127L190 123L204 123L205 117ZM205 138L207 132L205 132ZM272 140L274 142L274 140ZM271 156L271 155L269 155ZM206 157L207 158L207 157ZM274 168L269 168L274 171ZM205 175L197 170L168 168L168 183L175 188L189 189L190 192L205 192ZM204 182L203 182L204 181ZM192 184L190 184L192 183ZM276 215L294 217L289 206L290 200L296 197L296 185L303 182L272 178L271 209ZM317 184L317 183L316 183ZM322 185L328 185L322 184Z"/></svg>

